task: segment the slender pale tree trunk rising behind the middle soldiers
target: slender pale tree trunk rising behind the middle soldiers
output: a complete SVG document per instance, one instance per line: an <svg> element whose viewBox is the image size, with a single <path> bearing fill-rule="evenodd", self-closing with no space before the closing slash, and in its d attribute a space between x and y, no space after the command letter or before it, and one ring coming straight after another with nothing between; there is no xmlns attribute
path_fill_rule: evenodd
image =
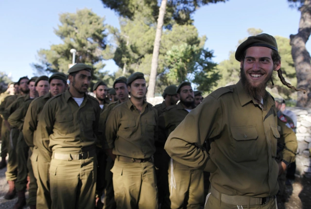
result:
<svg viewBox="0 0 311 209"><path fill-rule="evenodd" d="M155 97L156 71L157 71L157 66L158 66L158 57L159 57L159 50L160 50L160 44L161 44L161 35L162 35L162 27L163 27L163 22L164 22L166 3L167 3L167 0L162 0L161 6L159 9L159 17L157 18L157 25L156 25L156 32L155 32L155 44L154 44L154 51L152 53L151 70L150 70L147 97Z"/></svg>

